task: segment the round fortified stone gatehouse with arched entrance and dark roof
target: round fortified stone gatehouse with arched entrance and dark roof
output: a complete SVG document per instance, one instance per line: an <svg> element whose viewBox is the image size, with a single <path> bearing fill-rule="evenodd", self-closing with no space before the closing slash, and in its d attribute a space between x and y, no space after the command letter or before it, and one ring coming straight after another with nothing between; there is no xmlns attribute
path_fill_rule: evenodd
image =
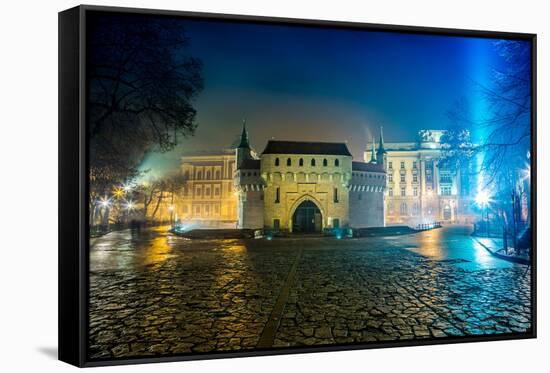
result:
<svg viewBox="0 0 550 373"><path fill-rule="evenodd" d="M243 127L236 162L239 228L384 226L384 165L354 162L345 143L270 140L255 157Z"/></svg>

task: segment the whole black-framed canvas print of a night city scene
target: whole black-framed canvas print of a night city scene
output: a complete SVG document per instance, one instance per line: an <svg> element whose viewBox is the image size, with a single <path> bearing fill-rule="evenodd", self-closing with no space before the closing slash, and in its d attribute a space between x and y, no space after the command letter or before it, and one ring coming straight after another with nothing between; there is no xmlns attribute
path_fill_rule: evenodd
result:
<svg viewBox="0 0 550 373"><path fill-rule="evenodd" d="M536 37L59 14L59 357L533 338Z"/></svg>

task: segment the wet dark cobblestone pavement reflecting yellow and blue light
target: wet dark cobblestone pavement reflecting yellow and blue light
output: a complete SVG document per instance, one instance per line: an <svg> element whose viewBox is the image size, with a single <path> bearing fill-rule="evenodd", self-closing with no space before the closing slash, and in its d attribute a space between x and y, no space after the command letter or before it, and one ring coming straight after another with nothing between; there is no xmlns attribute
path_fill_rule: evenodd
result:
<svg viewBox="0 0 550 373"><path fill-rule="evenodd" d="M456 228L391 238L92 241L90 357L525 332L530 272Z"/></svg>

